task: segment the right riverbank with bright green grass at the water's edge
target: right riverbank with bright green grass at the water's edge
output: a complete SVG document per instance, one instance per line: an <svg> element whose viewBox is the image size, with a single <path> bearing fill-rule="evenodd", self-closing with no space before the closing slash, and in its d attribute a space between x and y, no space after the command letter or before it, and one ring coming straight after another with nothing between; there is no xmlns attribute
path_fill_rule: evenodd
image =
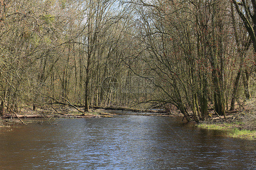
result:
<svg viewBox="0 0 256 170"><path fill-rule="evenodd" d="M209 130L221 130L226 136L256 140L256 114L253 110L236 110L227 112L226 119L212 115L209 119L197 124Z"/></svg>

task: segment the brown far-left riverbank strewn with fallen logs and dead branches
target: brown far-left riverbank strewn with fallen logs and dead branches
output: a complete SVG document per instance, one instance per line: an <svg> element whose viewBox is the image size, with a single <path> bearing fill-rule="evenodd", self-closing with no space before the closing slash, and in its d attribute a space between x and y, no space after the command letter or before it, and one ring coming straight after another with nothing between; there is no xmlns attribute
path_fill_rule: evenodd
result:
<svg viewBox="0 0 256 170"><path fill-rule="evenodd" d="M4 122L26 124L27 119L31 118L101 118L113 117L114 115L146 115L146 116L170 116L172 114L165 113L164 110L138 110L121 107L100 107L91 106L90 112L83 112L84 108L74 105L51 104L41 105L33 108L32 105L27 105L15 113L5 113L0 117L0 125L5 125Z"/></svg>

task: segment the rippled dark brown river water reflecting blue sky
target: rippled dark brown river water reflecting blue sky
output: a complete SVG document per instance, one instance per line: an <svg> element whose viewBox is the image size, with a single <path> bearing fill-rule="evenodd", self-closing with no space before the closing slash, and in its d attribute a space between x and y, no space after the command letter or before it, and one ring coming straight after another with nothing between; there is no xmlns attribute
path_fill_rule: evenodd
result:
<svg viewBox="0 0 256 170"><path fill-rule="evenodd" d="M256 169L256 142L170 117L61 119L0 130L0 169Z"/></svg>

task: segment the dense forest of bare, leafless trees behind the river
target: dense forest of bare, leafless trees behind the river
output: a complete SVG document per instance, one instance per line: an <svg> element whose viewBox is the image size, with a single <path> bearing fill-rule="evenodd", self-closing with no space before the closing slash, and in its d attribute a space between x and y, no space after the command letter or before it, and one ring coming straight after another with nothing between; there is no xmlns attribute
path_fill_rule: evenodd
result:
<svg viewBox="0 0 256 170"><path fill-rule="evenodd" d="M179 110L255 97L256 0L0 0L0 115L57 102Z"/></svg>

